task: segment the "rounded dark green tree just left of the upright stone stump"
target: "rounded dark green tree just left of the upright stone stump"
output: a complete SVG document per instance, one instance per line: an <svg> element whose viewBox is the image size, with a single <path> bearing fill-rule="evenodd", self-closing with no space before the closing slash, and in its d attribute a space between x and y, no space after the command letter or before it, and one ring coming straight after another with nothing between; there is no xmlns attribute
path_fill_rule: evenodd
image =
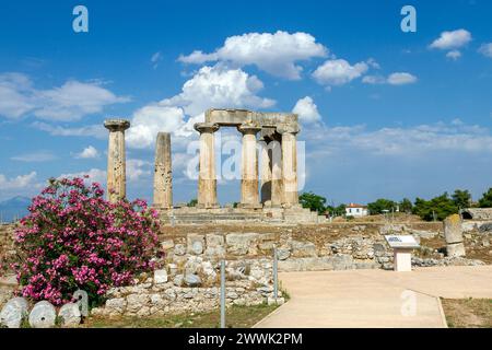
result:
<svg viewBox="0 0 492 350"><path fill-rule="evenodd" d="M413 206L413 213L426 221L432 221L434 218L436 220L444 220L448 215L457 212L458 206L449 198L447 192L432 198L431 200L417 198Z"/></svg>

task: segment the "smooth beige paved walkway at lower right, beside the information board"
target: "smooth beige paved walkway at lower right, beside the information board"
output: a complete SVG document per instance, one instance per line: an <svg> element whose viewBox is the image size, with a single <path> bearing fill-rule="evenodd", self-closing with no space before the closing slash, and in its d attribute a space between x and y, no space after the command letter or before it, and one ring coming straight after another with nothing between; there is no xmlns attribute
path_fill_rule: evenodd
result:
<svg viewBox="0 0 492 350"><path fill-rule="evenodd" d="M285 272L279 278L291 300L257 328L446 327L438 296L492 298L492 266Z"/></svg>

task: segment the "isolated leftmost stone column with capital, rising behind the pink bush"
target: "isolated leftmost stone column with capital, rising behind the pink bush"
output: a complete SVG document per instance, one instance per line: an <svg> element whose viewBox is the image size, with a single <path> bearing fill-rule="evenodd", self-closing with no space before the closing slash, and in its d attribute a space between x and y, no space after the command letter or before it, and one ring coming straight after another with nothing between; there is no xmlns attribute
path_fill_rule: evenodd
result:
<svg viewBox="0 0 492 350"><path fill-rule="evenodd" d="M126 119L106 119L104 127L109 130L107 149L107 199L117 202L127 195L125 130L130 127Z"/></svg>

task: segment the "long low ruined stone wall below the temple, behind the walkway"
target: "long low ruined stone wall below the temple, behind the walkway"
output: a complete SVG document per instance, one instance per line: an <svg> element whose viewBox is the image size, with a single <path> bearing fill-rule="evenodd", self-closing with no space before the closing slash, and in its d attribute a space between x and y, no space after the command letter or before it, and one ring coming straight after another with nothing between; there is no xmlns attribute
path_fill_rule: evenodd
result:
<svg viewBox="0 0 492 350"><path fill-rule="evenodd" d="M435 230L436 225L431 229ZM440 235L440 231L423 230L422 226L380 223L253 230L253 226L174 228L174 232L161 236L161 244L166 252L166 261L178 267L185 267L190 258L199 257L210 261L242 261L245 270L249 270L249 265L256 259L271 260L273 247L277 247L280 271L345 270L390 268L393 250L384 240L385 234L413 234L418 240Z"/></svg>

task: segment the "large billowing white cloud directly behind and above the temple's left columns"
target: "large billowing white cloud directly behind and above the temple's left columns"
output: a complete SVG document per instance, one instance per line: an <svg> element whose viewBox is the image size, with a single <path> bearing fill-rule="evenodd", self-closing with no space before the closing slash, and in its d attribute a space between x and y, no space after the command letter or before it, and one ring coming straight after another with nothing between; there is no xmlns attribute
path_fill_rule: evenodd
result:
<svg viewBox="0 0 492 350"><path fill-rule="evenodd" d="M203 119L208 108L267 108L274 101L257 93L263 88L256 75L222 65L202 67L185 82L181 92L134 112L128 130L128 145L150 148L159 131L186 138L195 133L192 125Z"/></svg>

